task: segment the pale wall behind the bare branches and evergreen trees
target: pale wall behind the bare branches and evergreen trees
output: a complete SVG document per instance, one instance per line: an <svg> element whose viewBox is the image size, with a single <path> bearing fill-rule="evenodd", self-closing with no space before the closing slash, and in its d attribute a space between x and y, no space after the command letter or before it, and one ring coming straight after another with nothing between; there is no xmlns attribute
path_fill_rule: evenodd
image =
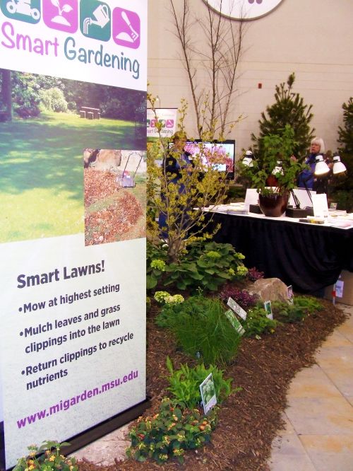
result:
<svg viewBox="0 0 353 471"><path fill-rule="evenodd" d="M191 4L198 14L205 13L203 0L191 0ZM326 149L337 149L342 103L353 95L352 17L352 0L283 0L267 16L246 22L234 112L234 116L243 113L246 118L229 135L237 139L237 151L251 145L251 132L257 134L261 112L275 101L275 86L287 81L293 71L294 92L313 105L311 126L316 135L323 137ZM191 103L172 30L169 0L149 0L149 90L160 97L161 107L178 107L181 98ZM261 89L258 83L262 83ZM191 106L186 127L190 136L196 136Z"/></svg>

